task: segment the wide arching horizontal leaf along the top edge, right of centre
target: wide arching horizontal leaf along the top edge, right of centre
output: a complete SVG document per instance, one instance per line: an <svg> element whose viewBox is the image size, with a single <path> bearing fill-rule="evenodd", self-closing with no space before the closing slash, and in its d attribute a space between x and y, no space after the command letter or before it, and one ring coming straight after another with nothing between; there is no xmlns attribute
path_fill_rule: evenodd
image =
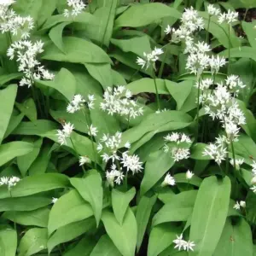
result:
<svg viewBox="0 0 256 256"><path fill-rule="evenodd" d="M119 16L114 25L131 27L146 26L169 16L179 19L181 14L177 9L170 8L163 3L134 4Z"/></svg>

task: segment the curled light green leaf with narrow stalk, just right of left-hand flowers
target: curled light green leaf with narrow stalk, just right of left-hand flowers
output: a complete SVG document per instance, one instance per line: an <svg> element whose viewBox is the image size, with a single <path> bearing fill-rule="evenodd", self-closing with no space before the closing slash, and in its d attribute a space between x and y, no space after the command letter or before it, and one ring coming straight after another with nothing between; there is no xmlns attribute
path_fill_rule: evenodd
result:
<svg viewBox="0 0 256 256"><path fill-rule="evenodd" d="M68 101L72 100L76 92L76 79L66 68L61 68L61 71L57 73L54 80L38 80L36 83L58 90Z"/></svg>

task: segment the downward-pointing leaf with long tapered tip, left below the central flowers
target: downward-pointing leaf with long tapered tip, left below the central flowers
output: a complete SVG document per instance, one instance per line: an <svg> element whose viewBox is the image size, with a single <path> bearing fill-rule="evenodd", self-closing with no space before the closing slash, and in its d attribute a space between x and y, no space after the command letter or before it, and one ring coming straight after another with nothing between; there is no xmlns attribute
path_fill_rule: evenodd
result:
<svg viewBox="0 0 256 256"><path fill-rule="evenodd" d="M84 200L90 203L98 226L102 216L103 200L101 175L96 170L91 170L86 173L85 177L72 177L70 183L79 191Z"/></svg>

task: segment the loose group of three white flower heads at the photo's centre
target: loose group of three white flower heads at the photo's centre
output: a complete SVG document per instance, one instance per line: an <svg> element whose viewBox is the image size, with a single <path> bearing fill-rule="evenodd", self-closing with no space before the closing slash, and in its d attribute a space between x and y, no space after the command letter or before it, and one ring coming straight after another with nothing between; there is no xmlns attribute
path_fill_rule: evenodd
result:
<svg viewBox="0 0 256 256"><path fill-rule="evenodd" d="M108 160L112 160L112 168L107 172L107 179L110 184L120 183L123 179L122 168L126 169L126 172L131 171L132 174L141 172L143 170L143 162L140 162L139 157L136 154L129 154L129 151L118 154L118 149L122 142L122 133L117 131L113 136L104 134L102 143L98 143L97 150L101 152L103 149L105 153L102 154L102 159L106 163ZM129 142L125 143L125 148L130 148L131 144ZM108 152L108 153L106 153ZM115 162L118 162L122 167L117 170Z"/></svg>

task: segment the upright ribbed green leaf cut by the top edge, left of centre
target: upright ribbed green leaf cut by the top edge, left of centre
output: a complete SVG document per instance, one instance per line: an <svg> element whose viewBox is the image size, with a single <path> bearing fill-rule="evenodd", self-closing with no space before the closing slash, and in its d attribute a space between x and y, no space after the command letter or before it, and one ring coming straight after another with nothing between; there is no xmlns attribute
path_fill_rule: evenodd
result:
<svg viewBox="0 0 256 256"><path fill-rule="evenodd" d="M89 38L100 45L109 45L113 32L113 20L116 13L118 0L103 1L100 8L93 13L97 22L91 22L85 27L85 32Z"/></svg>

